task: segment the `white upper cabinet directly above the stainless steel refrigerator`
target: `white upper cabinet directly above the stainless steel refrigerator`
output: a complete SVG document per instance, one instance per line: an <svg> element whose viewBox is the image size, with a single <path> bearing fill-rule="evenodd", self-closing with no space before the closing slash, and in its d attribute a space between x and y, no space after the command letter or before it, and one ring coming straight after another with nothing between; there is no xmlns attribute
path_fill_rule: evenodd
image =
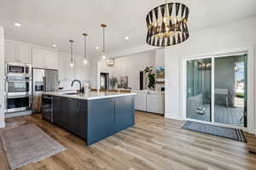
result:
<svg viewBox="0 0 256 170"><path fill-rule="evenodd" d="M32 48L32 67L58 69L58 54L41 48Z"/></svg>

